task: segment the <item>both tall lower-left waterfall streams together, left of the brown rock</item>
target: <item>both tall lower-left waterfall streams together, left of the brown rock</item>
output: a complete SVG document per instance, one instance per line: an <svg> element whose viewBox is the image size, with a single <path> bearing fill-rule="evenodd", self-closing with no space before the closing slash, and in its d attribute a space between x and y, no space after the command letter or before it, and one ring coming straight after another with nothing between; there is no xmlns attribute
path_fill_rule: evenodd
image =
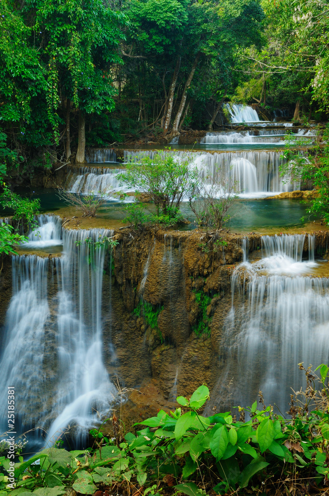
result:
<svg viewBox="0 0 329 496"><path fill-rule="evenodd" d="M75 426L74 438L83 443L86 428L108 414L115 400L103 358L111 352L103 349L102 339L106 250L84 242L111 235L109 230L63 230L63 255L50 267L48 258L36 255L12 258L13 296L0 362L0 404L6 405L7 386L14 385L21 424L17 432L41 428L48 432L47 444L53 444L68 425ZM6 425L1 428L4 431Z"/></svg>

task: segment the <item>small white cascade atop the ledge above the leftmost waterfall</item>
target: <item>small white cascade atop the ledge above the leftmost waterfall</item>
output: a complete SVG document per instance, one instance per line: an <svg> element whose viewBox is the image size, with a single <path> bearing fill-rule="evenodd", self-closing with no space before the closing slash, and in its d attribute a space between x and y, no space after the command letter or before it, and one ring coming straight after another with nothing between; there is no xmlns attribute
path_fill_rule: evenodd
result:
<svg viewBox="0 0 329 496"><path fill-rule="evenodd" d="M28 234L28 241L22 246L44 248L63 244L61 240L62 220L58 215L41 214L35 221L38 222L39 227Z"/></svg>

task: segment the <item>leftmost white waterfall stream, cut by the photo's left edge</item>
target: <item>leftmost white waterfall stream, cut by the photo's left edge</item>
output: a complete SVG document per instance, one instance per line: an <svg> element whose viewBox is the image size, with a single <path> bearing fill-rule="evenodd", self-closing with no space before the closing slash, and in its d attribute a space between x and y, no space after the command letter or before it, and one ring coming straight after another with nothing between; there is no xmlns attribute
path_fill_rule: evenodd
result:
<svg viewBox="0 0 329 496"><path fill-rule="evenodd" d="M44 368L48 305L48 258L12 257L12 297L4 325L0 357L0 428L7 430L7 386L15 387L15 431L31 428L46 410ZM26 401L28 398L28 401ZM3 421L3 423L1 422Z"/></svg>

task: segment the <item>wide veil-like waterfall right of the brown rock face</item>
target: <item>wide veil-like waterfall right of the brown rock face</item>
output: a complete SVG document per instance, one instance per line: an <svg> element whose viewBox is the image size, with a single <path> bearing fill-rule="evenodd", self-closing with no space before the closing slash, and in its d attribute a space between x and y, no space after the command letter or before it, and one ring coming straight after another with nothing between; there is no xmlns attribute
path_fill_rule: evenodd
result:
<svg viewBox="0 0 329 496"><path fill-rule="evenodd" d="M219 403L232 379L232 403L251 404L262 390L267 404L275 402L284 412L290 387L301 386L297 364L328 363L329 279L312 277L318 265L312 260L312 236L304 261L305 242L305 235L263 236L265 257L235 268L222 336Z"/></svg>

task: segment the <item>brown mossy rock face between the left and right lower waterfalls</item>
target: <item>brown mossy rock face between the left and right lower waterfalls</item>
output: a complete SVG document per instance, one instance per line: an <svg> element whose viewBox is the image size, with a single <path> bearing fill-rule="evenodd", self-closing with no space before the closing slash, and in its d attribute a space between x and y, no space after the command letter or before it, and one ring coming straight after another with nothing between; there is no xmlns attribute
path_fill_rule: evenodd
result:
<svg viewBox="0 0 329 496"><path fill-rule="evenodd" d="M111 340L119 377L127 387L152 377L167 399L212 386L217 337L231 305L227 264L241 260L240 239L231 236L214 252L215 233L126 229L116 238ZM110 357L107 365L114 366Z"/></svg>

